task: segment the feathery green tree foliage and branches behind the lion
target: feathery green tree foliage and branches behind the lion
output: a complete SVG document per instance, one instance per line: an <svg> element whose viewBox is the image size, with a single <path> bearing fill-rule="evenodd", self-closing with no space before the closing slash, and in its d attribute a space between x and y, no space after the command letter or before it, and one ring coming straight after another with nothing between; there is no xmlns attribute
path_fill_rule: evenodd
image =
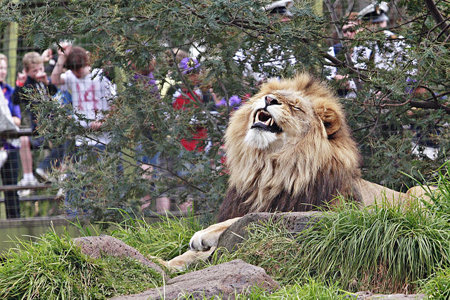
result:
<svg viewBox="0 0 450 300"><path fill-rule="evenodd" d="M328 46L338 41L347 44L344 49L377 45L382 55L392 52L392 41L382 30L366 24L359 26L352 39L330 39L345 24L345 9L353 1L340 1L342 10L324 1L328 11L323 15L311 8L313 1L295 1L289 22L261 9L268 0L4 2L0 27L18 22L20 34L41 49L65 40L84 44L91 52L92 66L109 70L120 91L113 101L115 110L103 125L112 141L101 159L86 149L73 149L84 160L67 162L65 171L70 176L56 184L70 191L71 201L66 204L79 214L120 221L117 211L105 208L138 213L139 200L146 195L152 202L162 195L176 204L193 199L196 211L217 211L228 178L221 169L220 146L230 111L212 114L200 101L185 111L173 109L172 93L179 86L194 89L176 66L179 49L194 51L203 67L200 89L204 93L213 89L219 99L255 93L257 80L244 72L249 66L267 77L307 71L323 79L329 73L324 65L337 67L339 74L348 75L359 86L354 98L342 98L342 103L361 146L363 174L368 180L404 189L413 181L401 172L420 173L429 181L433 175L429 170L446 159L450 147L446 124L450 113L446 98L449 30L444 29L446 23L438 25L421 1L389 4L392 32L404 46L388 69L376 67L371 60L364 62L366 67L355 69L345 59L345 50L337 57L339 61L330 62ZM449 14L444 1L436 7L442 15ZM246 54L245 59L233 58L238 51ZM296 64L286 63L290 56ZM278 58L284 62L279 68L270 63ZM131 76L148 67L150 60L155 60L153 75L159 91L172 83L168 93L157 96L145 84L130 84ZM333 80L330 86L339 89L346 81ZM418 88L424 93L410 93ZM33 109L39 112L40 134L53 144L86 135L86 129L70 117L68 107L58 101L41 101ZM181 136L192 133L192 119L207 128L208 152L188 152L179 143ZM418 143L419 150L426 143L439 145L437 159L416 156L411 142ZM144 174L139 167L141 156L157 153L167 165L152 166L158 175Z"/></svg>

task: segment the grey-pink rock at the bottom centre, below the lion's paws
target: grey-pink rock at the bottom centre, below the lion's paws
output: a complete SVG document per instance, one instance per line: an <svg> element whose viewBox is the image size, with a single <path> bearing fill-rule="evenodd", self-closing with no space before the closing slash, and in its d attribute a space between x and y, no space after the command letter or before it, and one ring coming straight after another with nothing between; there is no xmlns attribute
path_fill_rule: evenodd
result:
<svg viewBox="0 0 450 300"><path fill-rule="evenodd" d="M210 299L219 295L223 299L233 299L235 293L244 292L253 286L269 292L279 287L263 268L236 259L172 278L165 287L113 299L176 299L184 294L190 295L192 299Z"/></svg>

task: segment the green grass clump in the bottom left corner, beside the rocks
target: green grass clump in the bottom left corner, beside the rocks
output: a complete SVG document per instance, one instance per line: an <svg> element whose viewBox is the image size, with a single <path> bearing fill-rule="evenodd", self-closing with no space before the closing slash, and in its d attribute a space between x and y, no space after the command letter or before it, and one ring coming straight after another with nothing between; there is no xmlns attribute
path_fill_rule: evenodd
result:
<svg viewBox="0 0 450 300"><path fill-rule="evenodd" d="M92 259L67 233L18 240L0 264L2 299L105 299L159 285L161 275L152 268L134 259Z"/></svg>

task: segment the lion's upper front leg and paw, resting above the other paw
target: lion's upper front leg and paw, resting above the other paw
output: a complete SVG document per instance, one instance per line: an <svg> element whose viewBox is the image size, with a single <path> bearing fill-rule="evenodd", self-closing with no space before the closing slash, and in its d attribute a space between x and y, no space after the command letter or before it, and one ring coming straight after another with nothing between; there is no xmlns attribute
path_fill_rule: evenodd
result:
<svg viewBox="0 0 450 300"><path fill-rule="evenodd" d="M213 224L212 226L203 230L197 231L191 237L189 242L189 248L193 251L206 251L211 247L217 247L219 242L219 236L227 228L229 228L234 222L238 221L241 217L229 219L221 223Z"/></svg>

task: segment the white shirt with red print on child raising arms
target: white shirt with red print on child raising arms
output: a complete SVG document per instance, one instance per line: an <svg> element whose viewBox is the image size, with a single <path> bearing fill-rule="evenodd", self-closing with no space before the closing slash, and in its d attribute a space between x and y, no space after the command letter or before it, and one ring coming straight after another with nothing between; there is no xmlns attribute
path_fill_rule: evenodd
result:
<svg viewBox="0 0 450 300"><path fill-rule="evenodd" d="M102 76L102 70L94 69L84 78L78 78L71 70L61 74L65 84L61 90L72 95L72 107L76 114L84 115L88 121L79 120L79 124L89 128L89 123L105 117L105 111L110 109L109 101L116 95L116 87L108 78ZM75 119L78 119L74 115ZM108 133L99 131L91 138L77 138L76 145L101 145L109 143Z"/></svg>

